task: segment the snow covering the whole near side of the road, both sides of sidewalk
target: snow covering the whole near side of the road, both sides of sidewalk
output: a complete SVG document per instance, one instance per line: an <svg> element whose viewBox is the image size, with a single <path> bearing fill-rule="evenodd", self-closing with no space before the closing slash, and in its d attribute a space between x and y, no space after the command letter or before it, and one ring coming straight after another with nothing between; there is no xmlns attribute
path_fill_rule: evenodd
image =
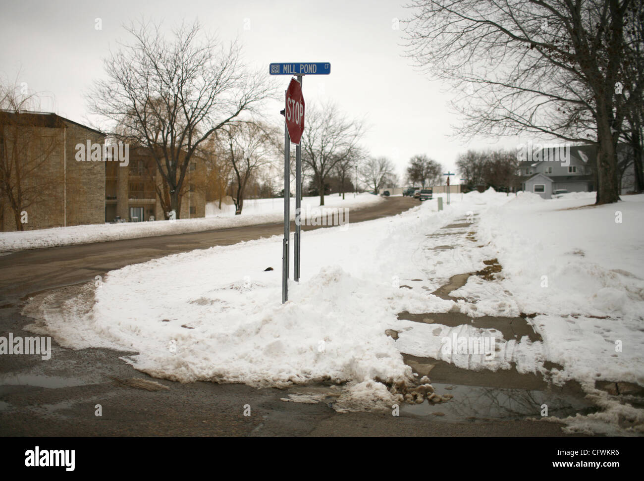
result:
<svg viewBox="0 0 644 481"><path fill-rule="evenodd" d="M109 272L100 287L87 287L84 307L72 299L56 314L45 299L46 325L30 328L70 348L135 351L122 359L176 381L346 381L345 397L363 407L401 401L382 384L412 380L401 352L475 370L515 365L545 373L551 361L562 366L550 371L554 382L576 379L588 391L601 380L643 386L644 196L580 209L594 202L592 194L547 201L493 191L460 197L453 195L442 212L433 200L348 229L304 232L302 279L290 283L285 304L276 236ZM465 227L466 219L473 225ZM430 294L493 258L502 267L495 278L471 276L451 292L464 300ZM404 310L471 318L536 313L529 322L543 342L397 319ZM397 341L384 335L387 329L397 330ZM494 359L446 353L443 339L453 334L494 336ZM585 417L578 426L616 424L624 410L628 405L613 403L603 417ZM644 422L640 411L635 416Z"/></svg>

